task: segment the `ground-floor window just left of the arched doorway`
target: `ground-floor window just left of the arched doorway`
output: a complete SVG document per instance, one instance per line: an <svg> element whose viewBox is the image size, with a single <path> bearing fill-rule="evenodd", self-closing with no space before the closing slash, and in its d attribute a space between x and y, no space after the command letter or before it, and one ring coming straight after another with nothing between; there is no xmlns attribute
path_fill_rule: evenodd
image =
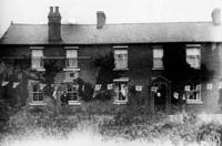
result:
<svg viewBox="0 0 222 146"><path fill-rule="evenodd" d="M128 81L120 79L114 80L114 103L121 104L128 102Z"/></svg>

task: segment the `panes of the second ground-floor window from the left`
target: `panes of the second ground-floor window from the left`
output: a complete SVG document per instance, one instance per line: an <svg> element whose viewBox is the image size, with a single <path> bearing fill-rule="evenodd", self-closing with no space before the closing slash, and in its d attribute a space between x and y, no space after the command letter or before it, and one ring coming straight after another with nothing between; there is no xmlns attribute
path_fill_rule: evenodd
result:
<svg viewBox="0 0 222 146"><path fill-rule="evenodd" d="M78 102L79 85L73 83L67 84L67 96L69 102Z"/></svg>

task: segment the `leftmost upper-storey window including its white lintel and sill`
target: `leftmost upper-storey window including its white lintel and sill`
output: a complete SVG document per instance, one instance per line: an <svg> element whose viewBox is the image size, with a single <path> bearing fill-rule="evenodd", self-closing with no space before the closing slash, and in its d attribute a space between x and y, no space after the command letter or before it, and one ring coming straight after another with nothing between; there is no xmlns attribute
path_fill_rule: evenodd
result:
<svg viewBox="0 0 222 146"><path fill-rule="evenodd" d="M46 71L43 66L43 48L31 46L31 69L37 71Z"/></svg>

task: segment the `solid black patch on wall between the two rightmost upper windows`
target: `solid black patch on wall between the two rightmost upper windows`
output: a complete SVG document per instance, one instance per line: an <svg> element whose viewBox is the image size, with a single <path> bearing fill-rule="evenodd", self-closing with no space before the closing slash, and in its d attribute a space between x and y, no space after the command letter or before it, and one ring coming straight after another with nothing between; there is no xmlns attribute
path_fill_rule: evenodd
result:
<svg viewBox="0 0 222 146"><path fill-rule="evenodd" d="M214 75L205 64L201 69L193 69L186 63L185 49L183 44L169 44L164 48L163 65L164 76L172 82L172 92L183 94L184 85L191 83L203 83ZM172 97L172 104L180 104L179 100Z"/></svg>

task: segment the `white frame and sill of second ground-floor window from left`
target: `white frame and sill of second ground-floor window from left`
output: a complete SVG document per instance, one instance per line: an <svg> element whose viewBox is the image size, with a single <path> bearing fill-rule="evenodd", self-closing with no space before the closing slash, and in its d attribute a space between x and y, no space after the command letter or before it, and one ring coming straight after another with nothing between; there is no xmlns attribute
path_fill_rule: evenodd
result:
<svg viewBox="0 0 222 146"><path fill-rule="evenodd" d="M71 91L69 91L69 86L71 86ZM73 97L73 94L77 94L77 100L70 100L70 95L72 95L71 97ZM79 101L79 85L74 84L72 82L67 83L67 96L68 96L68 104L69 105L79 105L80 101Z"/></svg>

